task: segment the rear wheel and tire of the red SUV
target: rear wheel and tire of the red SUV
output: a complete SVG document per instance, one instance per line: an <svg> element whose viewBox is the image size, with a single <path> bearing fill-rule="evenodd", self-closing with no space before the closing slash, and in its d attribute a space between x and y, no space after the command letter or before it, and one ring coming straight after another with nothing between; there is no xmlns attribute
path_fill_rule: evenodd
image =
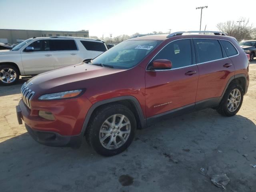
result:
<svg viewBox="0 0 256 192"><path fill-rule="evenodd" d="M241 108L243 99L243 88L239 84L229 85L217 109L218 113L222 116L235 115Z"/></svg>

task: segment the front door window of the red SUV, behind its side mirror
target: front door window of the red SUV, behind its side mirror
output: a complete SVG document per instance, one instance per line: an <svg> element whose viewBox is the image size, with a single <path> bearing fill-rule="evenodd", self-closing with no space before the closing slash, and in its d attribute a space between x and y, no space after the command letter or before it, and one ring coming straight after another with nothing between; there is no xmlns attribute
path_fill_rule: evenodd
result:
<svg viewBox="0 0 256 192"><path fill-rule="evenodd" d="M177 40L165 46L154 58L167 59L172 62L172 68L192 64L191 44L189 39Z"/></svg>

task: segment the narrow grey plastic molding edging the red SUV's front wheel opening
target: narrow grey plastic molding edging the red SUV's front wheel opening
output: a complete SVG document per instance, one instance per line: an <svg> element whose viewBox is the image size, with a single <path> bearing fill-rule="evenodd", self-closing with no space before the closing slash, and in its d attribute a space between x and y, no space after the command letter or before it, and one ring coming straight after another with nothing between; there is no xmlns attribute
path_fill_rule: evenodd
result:
<svg viewBox="0 0 256 192"><path fill-rule="evenodd" d="M134 105L139 119L140 119L140 124L142 128L146 128L147 127L147 122L146 122L146 118L143 115L142 109L140 107L140 103L138 102L138 100L134 97L134 96L120 96L120 97L114 97L114 98L110 98L110 99L106 99L106 100L102 100L99 102L94 103L91 108L89 109L86 118L84 120L84 124L82 126L82 130L81 132L84 133L86 130L86 127L88 126L88 122L90 120L90 117L92 116L92 113L94 112L94 110L98 107L101 106L103 104L108 104L108 103L112 103L112 102L117 102L117 101L122 101L122 100L129 100L132 102L132 104Z"/></svg>

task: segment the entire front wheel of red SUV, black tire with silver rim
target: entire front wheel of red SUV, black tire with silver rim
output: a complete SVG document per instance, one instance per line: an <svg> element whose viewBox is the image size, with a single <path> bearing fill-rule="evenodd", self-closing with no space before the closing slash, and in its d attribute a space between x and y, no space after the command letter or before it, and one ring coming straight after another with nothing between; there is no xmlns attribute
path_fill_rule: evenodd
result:
<svg viewBox="0 0 256 192"><path fill-rule="evenodd" d="M113 156L126 150L136 130L133 112L121 104L101 107L92 116L86 130L86 140L103 156Z"/></svg>

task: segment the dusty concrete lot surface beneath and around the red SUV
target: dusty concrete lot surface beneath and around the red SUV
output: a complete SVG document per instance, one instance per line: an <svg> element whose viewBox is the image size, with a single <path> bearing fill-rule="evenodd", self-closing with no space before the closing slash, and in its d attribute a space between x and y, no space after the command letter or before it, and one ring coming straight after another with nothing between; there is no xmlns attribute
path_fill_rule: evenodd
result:
<svg viewBox="0 0 256 192"><path fill-rule="evenodd" d="M35 142L16 120L25 81L0 87L1 192L217 192L210 177L222 173L230 179L226 191L256 191L255 60L237 115L206 109L159 122L138 130L128 150L113 157L85 141L78 150Z"/></svg>

